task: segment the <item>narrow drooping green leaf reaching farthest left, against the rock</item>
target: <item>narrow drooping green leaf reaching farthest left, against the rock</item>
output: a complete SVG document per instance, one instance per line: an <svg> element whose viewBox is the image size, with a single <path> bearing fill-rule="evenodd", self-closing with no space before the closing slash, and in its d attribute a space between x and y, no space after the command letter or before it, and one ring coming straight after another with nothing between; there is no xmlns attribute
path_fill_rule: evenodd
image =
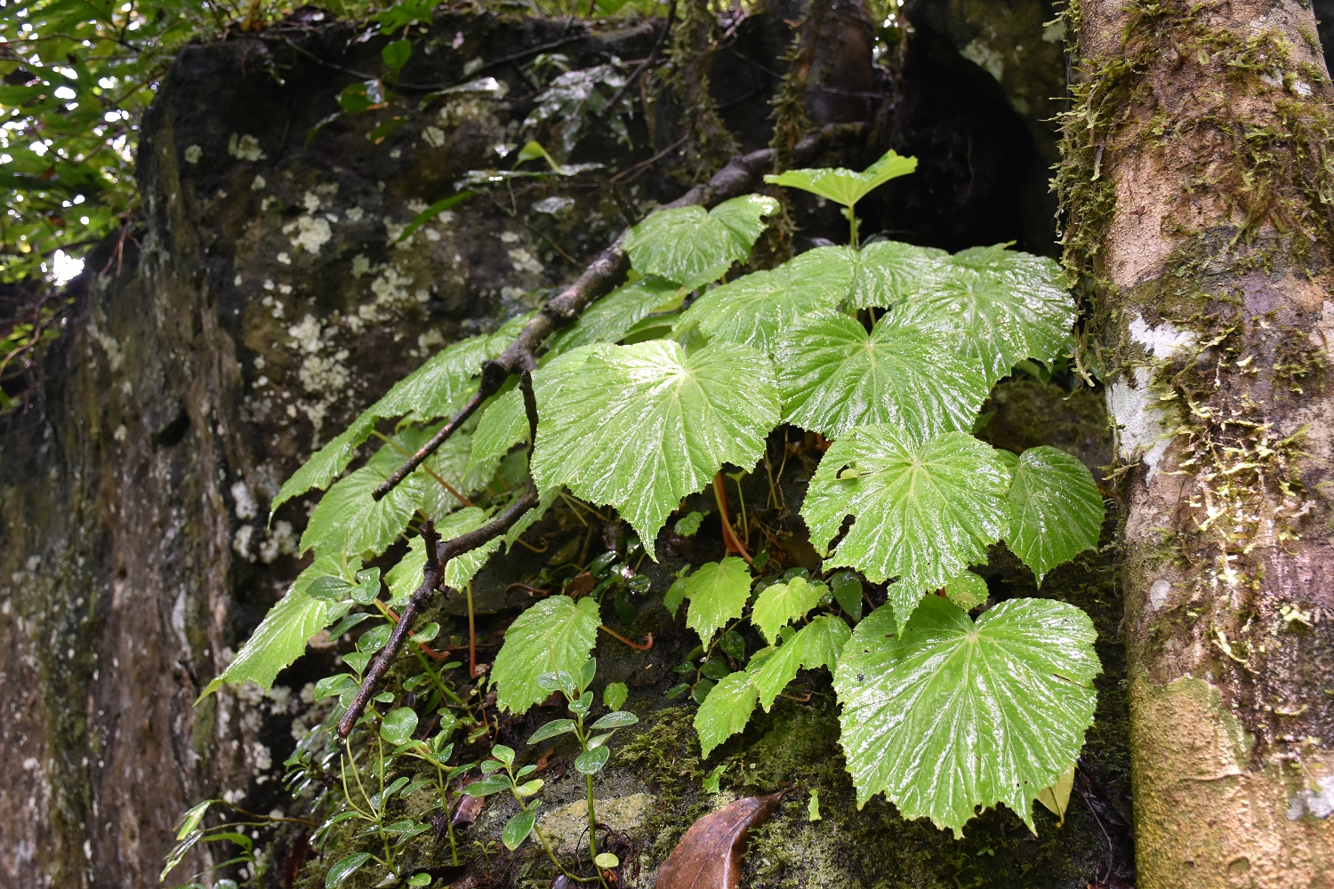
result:
<svg viewBox="0 0 1334 889"><path fill-rule="evenodd" d="M236 653L223 674L204 689L200 698L217 690L224 682L255 681L272 688L273 677L305 652L305 642L329 625L334 602L305 594L317 577L342 577L356 584L362 560L343 561L340 556L320 556L309 568L297 574L283 596L260 621L255 632ZM346 610L346 609L344 609Z"/></svg>

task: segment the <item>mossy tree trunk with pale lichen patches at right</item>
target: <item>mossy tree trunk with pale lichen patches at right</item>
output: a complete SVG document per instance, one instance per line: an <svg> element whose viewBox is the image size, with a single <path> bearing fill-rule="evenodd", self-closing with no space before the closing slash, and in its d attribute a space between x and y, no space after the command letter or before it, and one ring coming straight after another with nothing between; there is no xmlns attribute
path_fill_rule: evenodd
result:
<svg viewBox="0 0 1334 889"><path fill-rule="evenodd" d="M1309 7L1086 1L1058 184L1125 497L1141 885L1334 885L1331 89Z"/></svg>

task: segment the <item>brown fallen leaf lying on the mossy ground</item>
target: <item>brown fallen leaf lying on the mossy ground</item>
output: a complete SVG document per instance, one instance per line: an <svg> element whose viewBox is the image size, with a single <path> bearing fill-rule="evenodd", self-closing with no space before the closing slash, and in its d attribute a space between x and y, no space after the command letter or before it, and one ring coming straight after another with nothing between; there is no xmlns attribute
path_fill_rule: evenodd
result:
<svg viewBox="0 0 1334 889"><path fill-rule="evenodd" d="M736 889L747 833L783 793L736 800L692 824L658 869L658 889Z"/></svg>

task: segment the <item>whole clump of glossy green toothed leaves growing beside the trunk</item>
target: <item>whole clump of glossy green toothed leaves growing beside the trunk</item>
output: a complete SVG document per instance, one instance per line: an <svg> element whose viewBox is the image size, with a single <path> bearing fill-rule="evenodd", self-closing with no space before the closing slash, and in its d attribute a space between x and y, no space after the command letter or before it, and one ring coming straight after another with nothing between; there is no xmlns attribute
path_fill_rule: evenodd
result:
<svg viewBox="0 0 1334 889"><path fill-rule="evenodd" d="M846 205L855 232L856 200L910 172L910 161L891 152L862 173L796 171L779 184ZM776 208L750 195L711 211L651 215L624 241L634 280L538 355L536 440L528 441L511 380L475 421L375 500L375 488L478 391L482 363L527 319L443 349L395 385L275 498L277 509L328 488L301 537L315 564L209 688L271 682L320 628L362 617L355 608L404 602L426 564L414 528L427 518L447 537L478 528L524 470L543 498L511 540L570 492L614 508L644 556L655 557L659 532L684 496L727 464L755 465L770 432L791 424L832 439L800 512L824 550L822 574L792 569L763 580L756 566L727 557L683 573L666 594L674 613L688 602L686 625L700 638L678 668L692 681L674 692L688 689L700 704L704 754L740 732L756 704L770 709L799 670L828 668L860 800L884 792L904 814L956 832L978 806L1006 802L1031 825L1033 800L1071 766L1091 720L1091 625L1078 609L1043 600L1009 601L974 621L967 612L986 602L987 590L968 569L1003 540L1041 581L1097 544L1102 501L1077 458L1051 448L1000 452L970 431L996 380L1019 363L1050 365L1062 356L1074 304L1050 260L1005 245L947 255L854 240L719 283ZM392 429L380 431L387 424ZM372 436L383 446L348 473ZM518 444L528 448L515 450ZM488 480L502 484L488 490ZM698 526L698 513L676 524L679 533ZM386 574L390 597L380 602L379 573L362 565L403 536L408 552ZM500 545L451 560L447 585L467 584ZM575 734L590 797L608 756L599 738L610 737L591 732L618 728L606 722L614 717L632 720L612 713L583 728L602 601L612 584L638 582L608 566L600 560L590 566L594 584L571 584L568 594L524 610L490 677L496 704L512 713L555 690L566 696L571 718L534 740ZM863 618L866 584L884 585L888 602ZM738 632L747 620L767 642L750 657ZM380 630L344 656L354 673L327 693L352 693L388 624ZM512 768L512 752L507 760L496 750L474 793L515 797L520 812L506 842L516 848L536 822L540 786Z"/></svg>

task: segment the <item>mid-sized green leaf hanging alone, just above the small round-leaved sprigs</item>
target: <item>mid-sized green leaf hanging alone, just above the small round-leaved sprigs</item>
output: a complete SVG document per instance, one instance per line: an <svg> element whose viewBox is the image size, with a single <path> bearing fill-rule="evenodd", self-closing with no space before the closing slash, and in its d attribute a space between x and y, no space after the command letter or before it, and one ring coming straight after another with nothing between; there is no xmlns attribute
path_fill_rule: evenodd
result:
<svg viewBox="0 0 1334 889"><path fill-rule="evenodd" d="M526 713L551 692L538 684L543 673L564 670L579 676L598 637L598 602L551 596L519 614L504 633L504 644L491 668L496 704Z"/></svg>

